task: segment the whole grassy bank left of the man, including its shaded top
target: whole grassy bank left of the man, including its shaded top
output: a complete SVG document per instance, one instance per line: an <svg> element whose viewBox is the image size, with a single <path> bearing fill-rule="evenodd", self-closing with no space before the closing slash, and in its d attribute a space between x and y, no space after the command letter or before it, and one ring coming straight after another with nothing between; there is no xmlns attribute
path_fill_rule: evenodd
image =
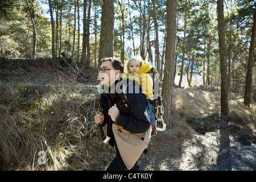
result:
<svg viewBox="0 0 256 182"><path fill-rule="evenodd" d="M2 60L0 169L102 170L113 158L94 125L97 69L88 84L46 59ZM39 165L46 152L46 164ZM104 156L104 157L102 157Z"/></svg>

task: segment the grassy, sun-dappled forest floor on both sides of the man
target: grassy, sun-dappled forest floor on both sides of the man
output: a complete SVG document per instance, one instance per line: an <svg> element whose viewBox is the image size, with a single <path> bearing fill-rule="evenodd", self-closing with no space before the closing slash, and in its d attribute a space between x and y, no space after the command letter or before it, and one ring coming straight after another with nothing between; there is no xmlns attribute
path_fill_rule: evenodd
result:
<svg viewBox="0 0 256 182"><path fill-rule="evenodd" d="M0 169L104 170L115 150L94 124L99 109L97 69L86 81L51 60L0 59ZM64 69L65 71L64 71ZM229 94L230 116L220 115L220 93L174 88L171 127L151 138L143 170L256 170L256 104ZM39 151L46 152L40 165ZM40 160L39 160L40 159Z"/></svg>

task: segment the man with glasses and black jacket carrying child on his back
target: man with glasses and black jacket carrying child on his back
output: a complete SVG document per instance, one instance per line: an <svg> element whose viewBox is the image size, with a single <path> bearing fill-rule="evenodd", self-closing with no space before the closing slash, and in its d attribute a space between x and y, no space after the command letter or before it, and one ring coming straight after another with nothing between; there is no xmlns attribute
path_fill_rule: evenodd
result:
<svg viewBox="0 0 256 182"><path fill-rule="evenodd" d="M150 114L146 96L141 92L126 94L127 107L117 107L123 100L123 90L120 82L123 64L118 59L107 57L101 60L102 64L98 72L100 84L104 85L104 93L101 94L102 111L96 114L95 123L105 127L105 143L116 147L117 155L107 170L140 170L139 156L147 147L150 140L151 125ZM105 88L106 86L106 88Z"/></svg>

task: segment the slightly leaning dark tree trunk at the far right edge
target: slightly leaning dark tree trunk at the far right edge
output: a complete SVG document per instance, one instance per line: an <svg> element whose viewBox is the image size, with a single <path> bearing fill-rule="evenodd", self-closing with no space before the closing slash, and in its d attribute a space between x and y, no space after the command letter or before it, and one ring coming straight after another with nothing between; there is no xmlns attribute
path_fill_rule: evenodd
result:
<svg viewBox="0 0 256 182"><path fill-rule="evenodd" d="M256 7L256 3L254 3ZM253 61L254 61L254 48L255 48L255 38L256 38L256 10L254 9L253 15L253 28L251 31L251 42L249 49L249 60L247 65L247 73L246 73L246 82L245 82L245 97L243 99L243 103L246 106L250 106L251 102L251 80L253 76Z"/></svg>

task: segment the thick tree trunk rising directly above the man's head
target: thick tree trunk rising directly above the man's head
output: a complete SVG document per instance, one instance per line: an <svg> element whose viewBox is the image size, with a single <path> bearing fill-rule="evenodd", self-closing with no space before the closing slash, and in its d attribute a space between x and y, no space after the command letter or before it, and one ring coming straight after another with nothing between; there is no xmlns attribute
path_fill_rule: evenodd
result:
<svg viewBox="0 0 256 182"><path fill-rule="evenodd" d="M114 0L104 0L101 16L101 38L98 63L104 57L113 57Z"/></svg>

